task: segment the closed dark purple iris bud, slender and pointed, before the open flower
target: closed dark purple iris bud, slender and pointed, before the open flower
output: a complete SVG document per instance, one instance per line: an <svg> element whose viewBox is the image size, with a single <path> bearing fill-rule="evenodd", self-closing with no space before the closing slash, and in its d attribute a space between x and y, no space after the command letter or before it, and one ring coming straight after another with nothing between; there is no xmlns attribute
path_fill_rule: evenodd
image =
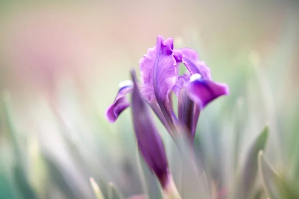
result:
<svg viewBox="0 0 299 199"><path fill-rule="evenodd" d="M167 184L169 174L164 144L152 121L147 103L141 97L136 84L135 71L132 71L131 74L134 82L132 94L133 126L137 144L145 162L163 188Z"/></svg>

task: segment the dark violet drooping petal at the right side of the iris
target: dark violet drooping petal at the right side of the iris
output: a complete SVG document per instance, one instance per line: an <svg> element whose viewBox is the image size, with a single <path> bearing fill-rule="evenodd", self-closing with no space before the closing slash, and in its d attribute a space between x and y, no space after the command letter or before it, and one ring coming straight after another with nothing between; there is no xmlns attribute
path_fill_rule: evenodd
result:
<svg viewBox="0 0 299 199"><path fill-rule="evenodd" d="M200 110L216 98L229 94L229 88L226 84L204 78L193 79L192 76L190 80L190 82L184 84L184 89Z"/></svg>

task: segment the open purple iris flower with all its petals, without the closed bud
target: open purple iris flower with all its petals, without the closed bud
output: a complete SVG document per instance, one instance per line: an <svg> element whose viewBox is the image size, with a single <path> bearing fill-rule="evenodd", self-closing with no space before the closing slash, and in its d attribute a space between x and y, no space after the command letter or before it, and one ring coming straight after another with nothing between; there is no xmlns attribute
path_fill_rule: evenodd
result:
<svg viewBox="0 0 299 199"><path fill-rule="evenodd" d="M178 75L180 63L187 72ZM200 111L216 98L228 95L226 84L212 80L209 67L199 60L195 50L174 49L173 39L158 35L156 45L139 61L140 94L146 100L168 132L173 136L177 125L183 125L194 139ZM121 85L113 104L106 110L108 121L115 122L130 106L126 94L133 92L132 83ZM178 114L173 112L171 94L178 98Z"/></svg>

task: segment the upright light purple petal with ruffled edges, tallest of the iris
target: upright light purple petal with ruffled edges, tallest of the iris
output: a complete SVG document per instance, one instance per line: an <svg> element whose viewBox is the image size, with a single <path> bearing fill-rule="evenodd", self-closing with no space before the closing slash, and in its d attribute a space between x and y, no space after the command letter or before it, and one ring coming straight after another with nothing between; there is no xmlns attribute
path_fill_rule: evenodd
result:
<svg viewBox="0 0 299 199"><path fill-rule="evenodd" d="M149 103L168 101L177 70L173 57L173 39L157 36L156 45L139 61L142 86L140 93Z"/></svg>

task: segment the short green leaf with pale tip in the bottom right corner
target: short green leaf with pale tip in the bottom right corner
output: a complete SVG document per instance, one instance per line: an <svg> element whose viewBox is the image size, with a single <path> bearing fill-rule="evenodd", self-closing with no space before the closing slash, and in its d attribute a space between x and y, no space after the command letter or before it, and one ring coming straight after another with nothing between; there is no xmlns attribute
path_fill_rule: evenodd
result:
<svg viewBox="0 0 299 199"><path fill-rule="evenodd" d="M299 199L298 184L291 184L282 178L265 158L261 150L258 155L259 175L269 199ZM297 187L296 187L297 186Z"/></svg>

